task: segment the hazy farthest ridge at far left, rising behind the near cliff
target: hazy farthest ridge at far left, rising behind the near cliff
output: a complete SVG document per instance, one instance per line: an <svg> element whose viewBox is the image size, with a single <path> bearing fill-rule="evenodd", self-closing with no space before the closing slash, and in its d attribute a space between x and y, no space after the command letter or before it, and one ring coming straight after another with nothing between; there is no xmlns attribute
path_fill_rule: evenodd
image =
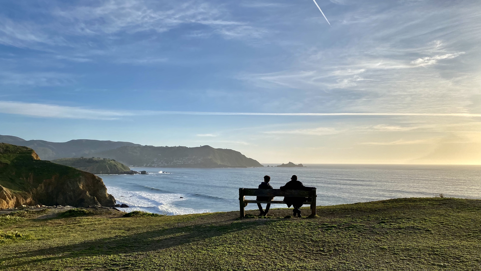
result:
<svg viewBox="0 0 481 271"><path fill-rule="evenodd" d="M25 140L17 136L1 135L0 142L34 149L43 160L92 156L90 155L91 153L107 149L115 149L122 146L140 146L140 144L123 141L75 139L67 142L49 142L45 140Z"/></svg>

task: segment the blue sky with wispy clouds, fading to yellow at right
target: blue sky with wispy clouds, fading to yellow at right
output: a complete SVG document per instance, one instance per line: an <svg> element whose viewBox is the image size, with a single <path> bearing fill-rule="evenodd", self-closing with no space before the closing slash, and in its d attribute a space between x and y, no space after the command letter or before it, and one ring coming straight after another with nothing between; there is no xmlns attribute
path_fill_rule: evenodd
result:
<svg viewBox="0 0 481 271"><path fill-rule="evenodd" d="M0 134L481 163L479 0L317 3L2 1Z"/></svg>

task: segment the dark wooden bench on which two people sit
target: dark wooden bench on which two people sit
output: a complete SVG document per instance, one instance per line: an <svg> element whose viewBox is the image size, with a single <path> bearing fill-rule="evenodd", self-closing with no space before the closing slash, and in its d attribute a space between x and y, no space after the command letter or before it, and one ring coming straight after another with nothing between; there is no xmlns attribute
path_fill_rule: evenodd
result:
<svg viewBox="0 0 481 271"><path fill-rule="evenodd" d="M247 203L278 203L286 204L284 201L256 201L246 200L245 196L265 196L265 197L307 197L308 200L303 204L311 205L311 215L316 215L316 188L313 190L280 190L280 189L258 189L258 188L240 188L239 189L239 206L241 207L241 217L244 217L244 208Z"/></svg>

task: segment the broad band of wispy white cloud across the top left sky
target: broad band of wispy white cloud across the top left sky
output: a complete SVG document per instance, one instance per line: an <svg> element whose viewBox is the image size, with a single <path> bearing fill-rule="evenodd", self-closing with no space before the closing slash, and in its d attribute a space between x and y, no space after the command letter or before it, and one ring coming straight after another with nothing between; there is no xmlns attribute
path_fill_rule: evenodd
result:
<svg viewBox="0 0 481 271"><path fill-rule="evenodd" d="M188 2L149 0L101 0L91 4L70 5L55 1L44 3L41 9L29 12L44 18L12 20L0 14L0 44L45 49L43 45L81 47L112 47L112 39L125 34L163 33L182 25L206 27L204 32L225 38L259 38L266 33L262 27L248 21L236 21L222 5L202 0ZM95 41L77 42L78 37ZM123 39L123 42L127 40ZM130 42L135 42L132 40ZM103 45L102 45L103 43ZM48 50L48 49L47 49Z"/></svg>

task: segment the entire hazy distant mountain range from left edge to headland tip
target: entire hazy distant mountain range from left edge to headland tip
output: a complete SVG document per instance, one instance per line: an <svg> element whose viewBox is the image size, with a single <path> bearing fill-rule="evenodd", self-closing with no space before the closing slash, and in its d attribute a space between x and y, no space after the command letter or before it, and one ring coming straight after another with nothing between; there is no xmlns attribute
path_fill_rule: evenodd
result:
<svg viewBox="0 0 481 271"><path fill-rule="evenodd" d="M132 142L76 139L67 142L25 140L1 136L0 142L34 149L43 160L101 157L139 167L263 167L252 158L233 149L202 147L154 147Z"/></svg>

